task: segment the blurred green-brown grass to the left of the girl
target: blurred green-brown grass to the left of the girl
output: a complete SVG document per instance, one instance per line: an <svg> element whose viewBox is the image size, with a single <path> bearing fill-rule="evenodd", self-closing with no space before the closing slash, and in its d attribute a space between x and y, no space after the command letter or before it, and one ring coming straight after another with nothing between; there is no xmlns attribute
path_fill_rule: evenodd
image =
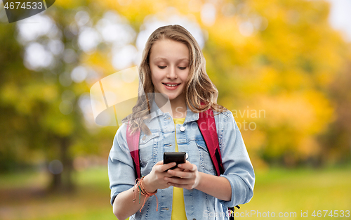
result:
<svg viewBox="0 0 351 220"><path fill-rule="evenodd" d="M116 219L110 205L107 167L77 172L77 190L46 195L48 177L27 172L0 176L0 219Z"/></svg>

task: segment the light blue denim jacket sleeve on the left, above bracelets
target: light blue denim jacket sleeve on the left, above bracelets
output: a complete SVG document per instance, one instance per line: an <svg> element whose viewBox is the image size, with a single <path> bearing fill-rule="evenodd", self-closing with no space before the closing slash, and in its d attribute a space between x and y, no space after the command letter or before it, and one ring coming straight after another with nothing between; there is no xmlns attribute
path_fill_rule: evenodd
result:
<svg viewBox="0 0 351 220"><path fill-rule="evenodd" d="M134 165L126 143L126 124L122 124L114 136L108 158L108 176L111 189L111 205L116 196L134 186Z"/></svg>

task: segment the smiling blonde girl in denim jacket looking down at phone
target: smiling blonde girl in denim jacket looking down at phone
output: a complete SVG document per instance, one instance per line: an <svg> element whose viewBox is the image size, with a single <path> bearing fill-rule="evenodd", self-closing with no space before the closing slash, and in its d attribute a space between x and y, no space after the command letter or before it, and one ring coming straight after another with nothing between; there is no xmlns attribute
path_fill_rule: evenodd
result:
<svg viewBox="0 0 351 220"><path fill-rule="evenodd" d="M249 202L255 176L232 112L217 104L197 41L180 25L159 27L147 40L139 68L137 104L119 127L108 168L113 212L126 219L228 219L227 207ZM215 115L223 175L216 176L199 130L199 112ZM126 141L140 129L142 179ZM164 152L187 162L163 164Z"/></svg>

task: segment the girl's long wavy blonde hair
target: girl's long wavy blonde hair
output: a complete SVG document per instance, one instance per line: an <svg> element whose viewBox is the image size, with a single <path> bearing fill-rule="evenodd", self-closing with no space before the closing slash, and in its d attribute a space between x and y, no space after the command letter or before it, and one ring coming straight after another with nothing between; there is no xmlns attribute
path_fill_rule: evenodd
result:
<svg viewBox="0 0 351 220"><path fill-rule="evenodd" d="M138 101L133 107L133 112L122 122L130 122L131 133L141 129L150 135L151 131L144 123L150 117L150 108L154 100L154 85L152 84L150 70L150 51L152 45L159 40L171 39L183 43L189 49L189 75L185 86L185 102L192 112L204 112L209 108L218 112L227 110L217 104L218 90L206 73L206 60L197 41L184 27L168 25L159 27L147 39L142 61L139 67Z"/></svg>

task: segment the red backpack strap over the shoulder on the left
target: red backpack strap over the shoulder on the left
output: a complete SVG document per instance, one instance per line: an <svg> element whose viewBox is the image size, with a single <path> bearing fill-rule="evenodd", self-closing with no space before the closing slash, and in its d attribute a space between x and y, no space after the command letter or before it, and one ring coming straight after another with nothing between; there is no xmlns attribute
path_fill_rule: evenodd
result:
<svg viewBox="0 0 351 220"><path fill-rule="evenodd" d="M140 129L131 134L129 131L129 123L127 124L127 144L129 151L131 152L131 157L134 164L135 178L140 179L140 160L139 160L139 139L140 139Z"/></svg>

